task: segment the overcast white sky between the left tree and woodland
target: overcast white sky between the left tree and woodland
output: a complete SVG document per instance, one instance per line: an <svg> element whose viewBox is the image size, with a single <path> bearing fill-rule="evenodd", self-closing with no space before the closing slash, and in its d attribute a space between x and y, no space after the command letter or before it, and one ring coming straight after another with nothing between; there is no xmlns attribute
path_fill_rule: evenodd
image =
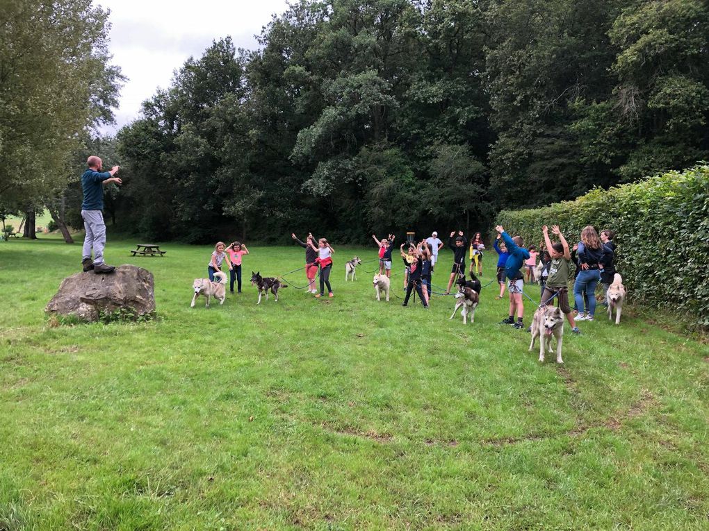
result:
<svg viewBox="0 0 709 531"><path fill-rule="evenodd" d="M113 132L138 118L140 103L158 87L167 88L172 73L190 56L201 57L212 40L231 35L237 48L254 50L255 35L286 0L95 0L111 10L113 64L128 77L121 91Z"/></svg>

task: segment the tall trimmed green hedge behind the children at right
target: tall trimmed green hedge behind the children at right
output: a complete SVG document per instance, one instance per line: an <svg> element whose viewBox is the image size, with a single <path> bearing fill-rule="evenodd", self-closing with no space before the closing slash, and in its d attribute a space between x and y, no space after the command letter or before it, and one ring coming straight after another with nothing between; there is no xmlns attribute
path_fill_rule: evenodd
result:
<svg viewBox="0 0 709 531"><path fill-rule="evenodd" d="M542 240L544 224L559 224L569 245L586 225L613 229L616 269L629 296L709 326L709 166L591 190L549 207L503 210L497 222L527 245Z"/></svg>

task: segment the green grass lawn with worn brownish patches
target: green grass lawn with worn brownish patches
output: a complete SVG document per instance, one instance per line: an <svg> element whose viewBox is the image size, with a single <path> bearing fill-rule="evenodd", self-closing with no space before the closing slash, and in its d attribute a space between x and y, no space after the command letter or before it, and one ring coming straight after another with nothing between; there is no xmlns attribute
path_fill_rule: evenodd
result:
<svg viewBox="0 0 709 531"><path fill-rule="evenodd" d="M106 260L152 271L160 318L52 328L80 244L0 243L0 530L709 528L709 349L671 318L599 309L559 367L498 324L494 285L466 328L452 297L345 285L374 246L335 245L335 298L258 307L251 270L303 252L255 246L243 295L191 309L211 248L134 245L109 228Z"/></svg>

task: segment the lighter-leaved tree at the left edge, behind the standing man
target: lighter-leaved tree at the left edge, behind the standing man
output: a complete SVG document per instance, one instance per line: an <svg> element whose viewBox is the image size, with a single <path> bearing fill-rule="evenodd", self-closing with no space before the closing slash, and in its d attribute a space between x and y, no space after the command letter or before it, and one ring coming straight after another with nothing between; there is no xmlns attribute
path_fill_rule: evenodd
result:
<svg viewBox="0 0 709 531"><path fill-rule="evenodd" d="M34 238L38 210L65 229L72 161L113 120L123 76L91 0L0 0L0 13L0 215L25 215Z"/></svg>

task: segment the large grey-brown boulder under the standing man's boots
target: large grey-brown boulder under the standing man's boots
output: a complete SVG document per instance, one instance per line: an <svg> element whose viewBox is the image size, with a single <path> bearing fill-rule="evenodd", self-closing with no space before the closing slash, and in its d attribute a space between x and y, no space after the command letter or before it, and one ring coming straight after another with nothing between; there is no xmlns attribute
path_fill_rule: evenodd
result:
<svg viewBox="0 0 709 531"><path fill-rule="evenodd" d="M99 312L111 314L118 309L128 309L135 316L155 312L155 284L150 271L121 265L106 275L77 273L62 280L45 312L98 321Z"/></svg>

